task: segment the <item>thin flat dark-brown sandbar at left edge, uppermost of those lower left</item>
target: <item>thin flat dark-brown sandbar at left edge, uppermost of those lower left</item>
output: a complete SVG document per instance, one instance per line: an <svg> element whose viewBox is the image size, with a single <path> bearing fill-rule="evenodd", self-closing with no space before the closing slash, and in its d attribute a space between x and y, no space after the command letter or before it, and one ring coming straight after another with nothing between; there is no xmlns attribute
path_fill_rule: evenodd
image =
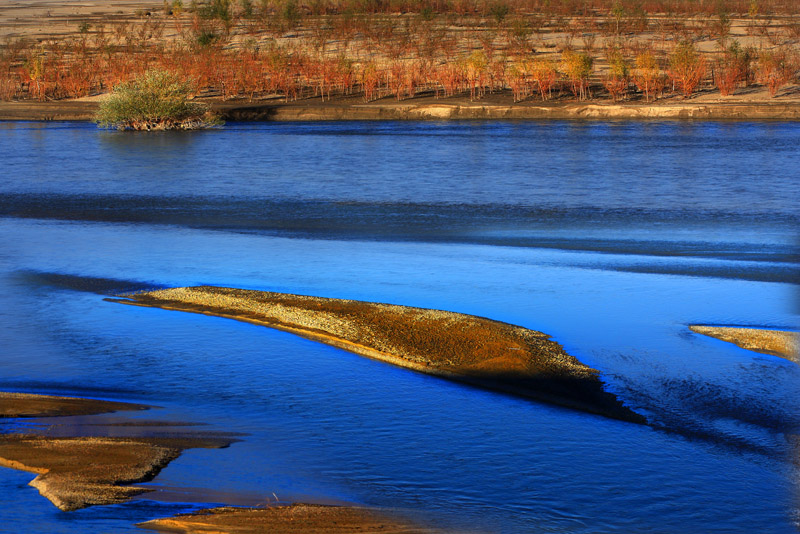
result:
<svg viewBox="0 0 800 534"><path fill-rule="evenodd" d="M0 417L55 417L93 415L125 410L146 410L149 406L75 397L53 397L0 391Z"/></svg>

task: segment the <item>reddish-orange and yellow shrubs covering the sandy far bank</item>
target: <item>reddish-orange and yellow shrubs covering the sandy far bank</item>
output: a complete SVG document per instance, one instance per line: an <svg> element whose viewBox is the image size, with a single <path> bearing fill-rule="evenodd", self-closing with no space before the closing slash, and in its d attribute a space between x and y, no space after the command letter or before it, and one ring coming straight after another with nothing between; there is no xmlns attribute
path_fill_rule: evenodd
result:
<svg viewBox="0 0 800 534"><path fill-rule="evenodd" d="M76 28L3 44L0 100L108 92L152 69L200 96L286 101L774 96L800 71L789 0L172 0Z"/></svg>

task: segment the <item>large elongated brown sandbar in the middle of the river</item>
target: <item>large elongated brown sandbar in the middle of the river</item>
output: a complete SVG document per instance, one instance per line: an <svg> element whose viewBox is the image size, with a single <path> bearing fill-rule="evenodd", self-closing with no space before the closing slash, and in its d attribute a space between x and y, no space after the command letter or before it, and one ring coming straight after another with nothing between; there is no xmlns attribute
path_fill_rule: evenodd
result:
<svg viewBox="0 0 800 534"><path fill-rule="evenodd" d="M253 322L423 373L645 422L546 334L483 317L208 286L111 300Z"/></svg>

